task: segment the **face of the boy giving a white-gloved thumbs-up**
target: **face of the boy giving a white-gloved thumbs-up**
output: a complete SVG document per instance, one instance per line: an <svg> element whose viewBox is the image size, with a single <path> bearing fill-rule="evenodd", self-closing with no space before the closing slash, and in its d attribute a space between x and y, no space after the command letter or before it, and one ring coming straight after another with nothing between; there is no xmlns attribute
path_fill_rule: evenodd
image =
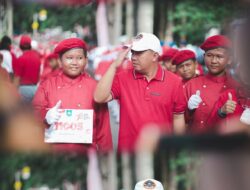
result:
<svg viewBox="0 0 250 190"><path fill-rule="evenodd" d="M216 48L206 51L204 61L210 74L221 76L231 63L231 57L226 49Z"/></svg>

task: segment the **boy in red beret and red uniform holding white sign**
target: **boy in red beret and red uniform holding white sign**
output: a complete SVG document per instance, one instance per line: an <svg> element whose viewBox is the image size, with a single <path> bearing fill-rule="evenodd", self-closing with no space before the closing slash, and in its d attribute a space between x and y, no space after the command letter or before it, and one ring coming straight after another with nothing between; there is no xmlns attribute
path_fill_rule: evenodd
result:
<svg viewBox="0 0 250 190"><path fill-rule="evenodd" d="M52 131L58 129L57 126L60 124L59 119L61 117L59 109L93 110L93 119L90 121L93 124L92 143L69 141L61 143L58 141L53 143L54 150L56 152L86 153L89 148L94 148L101 152L110 151L112 149L112 138L108 109L106 104L94 102L93 94L96 82L84 72L88 60L86 43L79 38L65 39L57 45L54 52L59 55L62 72L42 82L33 100L34 108L48 125L47 129ZM72 112L68 111L67 114ZM83 119L88 117L89 115L85 115ZM83 122L83 124L87 126L87 123ZM73 127L73 124L68 126ZM75 126L75 129L77 126ZM75 131L75 129L72 128L72 131ZM69 133L65 132L65 135L67 136ZM82 138L90 136L89 131L81 136Z"/></svg>

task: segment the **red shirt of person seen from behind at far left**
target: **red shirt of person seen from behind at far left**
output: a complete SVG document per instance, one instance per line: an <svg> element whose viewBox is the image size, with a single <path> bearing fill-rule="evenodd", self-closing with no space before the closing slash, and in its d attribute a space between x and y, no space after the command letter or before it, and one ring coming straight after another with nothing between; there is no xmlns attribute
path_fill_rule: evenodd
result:
<svg viewBox="0 0 250 190"><path fill-rule="evenodd" d="M24 51L17 59L15 75L20 77L20 85L35 85L39 80L41 60L38 52Z"/></svg>

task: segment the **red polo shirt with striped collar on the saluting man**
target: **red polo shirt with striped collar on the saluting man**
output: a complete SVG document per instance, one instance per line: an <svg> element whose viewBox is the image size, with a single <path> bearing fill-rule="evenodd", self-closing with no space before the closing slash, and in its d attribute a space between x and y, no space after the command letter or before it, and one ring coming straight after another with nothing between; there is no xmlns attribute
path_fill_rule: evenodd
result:
<svg viewBox="0 0 250 190"><path fill-rule="evenodd" d="M120 100L119 151L133 151L141 129L157 124L162 132L172 133L173 113L184 113L186 101L182 82L159 65L151 80L133 69L116 74L112 96Z"/></svg>

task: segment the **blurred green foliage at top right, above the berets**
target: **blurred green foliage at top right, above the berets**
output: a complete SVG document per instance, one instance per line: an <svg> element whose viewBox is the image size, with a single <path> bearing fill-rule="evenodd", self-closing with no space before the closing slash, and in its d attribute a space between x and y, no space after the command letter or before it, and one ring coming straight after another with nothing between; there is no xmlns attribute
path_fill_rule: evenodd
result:
<svg viewBox="0 0 250 190"><path fill-rule="evenodd" d="M225 22L236 16L237 11L237 1L183 0L176 4L168 18L174 21L174 34L177 38L185 36L188 42L200 44L210 28L223 30Z"/></svg>

